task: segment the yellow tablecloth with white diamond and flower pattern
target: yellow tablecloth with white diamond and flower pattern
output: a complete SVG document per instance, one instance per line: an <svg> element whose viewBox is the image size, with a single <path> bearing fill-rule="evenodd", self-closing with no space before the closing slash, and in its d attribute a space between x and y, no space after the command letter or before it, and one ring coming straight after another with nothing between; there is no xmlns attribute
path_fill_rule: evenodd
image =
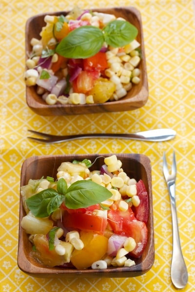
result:
<svg viewBox="0 0 195 292"><path fill-rule="evenodd" d="M80 116L43 117L25 102L24 29L40 12L135 6L142 15L149 100L138 110ZM135 132L173 128L175 140L147 143L89 139L42 145L27 129L53 134ZM192 0L1 0L0 1L0 291L1 292L171 292L172 225L162 174L162 154L176 151L176 204L183 255L195 291L195 26ZM41 279L17 266L20 169L32 155L142 153L152 164L156 257L152 269L136 278ZM169 164L170 165L170 164Z"/></svg>

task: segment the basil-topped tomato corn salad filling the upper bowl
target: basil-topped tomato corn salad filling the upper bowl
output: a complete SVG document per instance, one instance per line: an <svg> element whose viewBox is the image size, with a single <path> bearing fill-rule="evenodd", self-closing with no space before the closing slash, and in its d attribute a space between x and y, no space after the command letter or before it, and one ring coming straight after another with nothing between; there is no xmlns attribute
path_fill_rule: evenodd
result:
<svg viewBox="0 0 195 292"><path fill-rule="evenodd" d="M115 101L140 82L138 30L124 18L74 8L44 21L24 78L46 104Z"/></svg>

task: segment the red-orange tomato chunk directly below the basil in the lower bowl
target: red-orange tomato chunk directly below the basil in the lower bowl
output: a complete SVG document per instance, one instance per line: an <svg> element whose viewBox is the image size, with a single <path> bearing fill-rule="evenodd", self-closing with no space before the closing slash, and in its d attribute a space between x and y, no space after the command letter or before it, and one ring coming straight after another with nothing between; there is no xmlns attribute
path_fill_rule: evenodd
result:
<svg viewBox="0 0 195 292"><path fill-rule="evenodd" d="M107 219L94 216L90 211L87 213L68 213L65 211L62 223L64 227L93 231L103 235L107 226Z"/></svg>

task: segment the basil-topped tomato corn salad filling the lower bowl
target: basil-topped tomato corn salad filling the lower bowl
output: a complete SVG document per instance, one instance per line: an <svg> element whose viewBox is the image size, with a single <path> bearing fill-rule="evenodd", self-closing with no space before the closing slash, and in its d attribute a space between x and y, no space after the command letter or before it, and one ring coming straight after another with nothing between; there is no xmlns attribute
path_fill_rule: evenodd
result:
<svg viewBox="0 0 195 292"><path fill-rule="evenodd" d="M130 178L116 155L90 171L91 161L64 162L57 180L21 187L21 227L43 266L106 269L135 265L147 244L149 199L142 180Z"/></svg>

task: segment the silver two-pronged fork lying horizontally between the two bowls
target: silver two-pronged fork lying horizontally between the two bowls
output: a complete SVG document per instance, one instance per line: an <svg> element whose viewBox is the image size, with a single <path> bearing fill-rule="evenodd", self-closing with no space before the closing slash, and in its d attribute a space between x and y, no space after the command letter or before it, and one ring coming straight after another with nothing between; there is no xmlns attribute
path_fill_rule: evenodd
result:
<svg viewBox="0 0 195 292"><path fill-rule="evenodd" d="M66 136L57 136L57 135L50 135L46 133L40 133L34 130L28 130L33 134L37 134L42 136L44 139L35 138L35 137L28 137L34 141L40 143L60 143L69 140L76 140L76 139L86 139L86 138L122 138L122 139L134 139L134 140L143 140L143 141L151 141L151 142L160 142L160 141L168 141L174 139L176 136L176 131L169 128L164 129L153 129L138 133L130 133L130 134L78 134L78 135L66 135Z"/></svg>

